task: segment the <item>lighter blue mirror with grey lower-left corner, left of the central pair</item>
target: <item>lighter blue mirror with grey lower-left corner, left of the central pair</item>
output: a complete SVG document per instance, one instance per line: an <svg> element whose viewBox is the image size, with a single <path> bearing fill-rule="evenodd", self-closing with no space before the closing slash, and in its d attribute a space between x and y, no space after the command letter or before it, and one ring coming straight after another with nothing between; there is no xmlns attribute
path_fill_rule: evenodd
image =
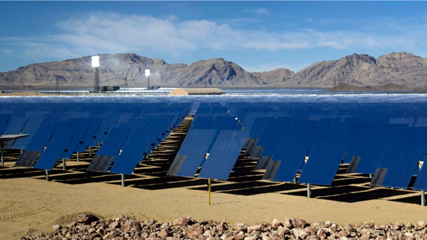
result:
<svg viewBox="0 0 427 240"><path fill-rule="evenodd" d="M216 129L190 129L168 175L194 177L216 135Z"/></svg>

